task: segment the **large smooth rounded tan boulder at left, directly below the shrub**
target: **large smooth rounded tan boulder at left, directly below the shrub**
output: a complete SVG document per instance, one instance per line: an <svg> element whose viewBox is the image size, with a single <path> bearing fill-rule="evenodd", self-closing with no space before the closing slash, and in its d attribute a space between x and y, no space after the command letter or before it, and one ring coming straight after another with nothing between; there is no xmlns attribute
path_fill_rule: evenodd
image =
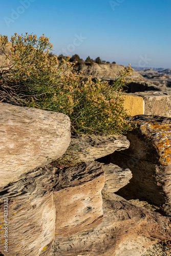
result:
<svg viewBox="0 0 171 256"><path fill-rule="evenodd" d="M0 187L60 157L70 144L70 119L61 113L0 103Z"/></svg>

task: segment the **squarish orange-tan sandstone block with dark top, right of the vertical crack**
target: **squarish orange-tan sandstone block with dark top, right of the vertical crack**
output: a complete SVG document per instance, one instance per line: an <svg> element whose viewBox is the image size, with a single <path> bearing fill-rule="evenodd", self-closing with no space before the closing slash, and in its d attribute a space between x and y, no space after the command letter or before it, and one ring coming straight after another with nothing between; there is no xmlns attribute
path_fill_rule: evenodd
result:
<svg viewBox="0 0 171 256"><path fill-rule="evenodd" d="M102 222L104 181L103 167L98 162L82 163L59 171L58 184L54 187L56 237L69 237Z"/></svg>

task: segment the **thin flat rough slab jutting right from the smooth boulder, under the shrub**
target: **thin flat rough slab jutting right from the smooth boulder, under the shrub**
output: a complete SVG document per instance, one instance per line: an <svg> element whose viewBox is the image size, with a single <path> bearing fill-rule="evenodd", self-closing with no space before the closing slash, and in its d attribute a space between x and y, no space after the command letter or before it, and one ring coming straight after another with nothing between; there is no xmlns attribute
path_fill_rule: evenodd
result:
<svg viewBox="0 0 171 256"><path fill-rule="evenodd" d="M129 145L129 140L123 135L96 136L83 134L78 138L72 138L70 146L74 151L74 156L79 161L93 161L116 150L124 150Z"/></svg>

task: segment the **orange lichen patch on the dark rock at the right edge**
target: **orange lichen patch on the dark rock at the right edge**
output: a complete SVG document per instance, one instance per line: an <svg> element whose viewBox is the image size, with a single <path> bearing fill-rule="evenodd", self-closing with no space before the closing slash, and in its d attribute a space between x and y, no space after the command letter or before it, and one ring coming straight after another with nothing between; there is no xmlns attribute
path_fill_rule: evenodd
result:
<svg viewBox="0 0 171 256"><path fill-rule="evenodd" d="M142 134L156 148L159 156L159 162L167 165L170 162L171 155L171 123L156 122L156 120L138 120L133 121L139 123ZM142 123L142 124L141 124Z"/></svg>

